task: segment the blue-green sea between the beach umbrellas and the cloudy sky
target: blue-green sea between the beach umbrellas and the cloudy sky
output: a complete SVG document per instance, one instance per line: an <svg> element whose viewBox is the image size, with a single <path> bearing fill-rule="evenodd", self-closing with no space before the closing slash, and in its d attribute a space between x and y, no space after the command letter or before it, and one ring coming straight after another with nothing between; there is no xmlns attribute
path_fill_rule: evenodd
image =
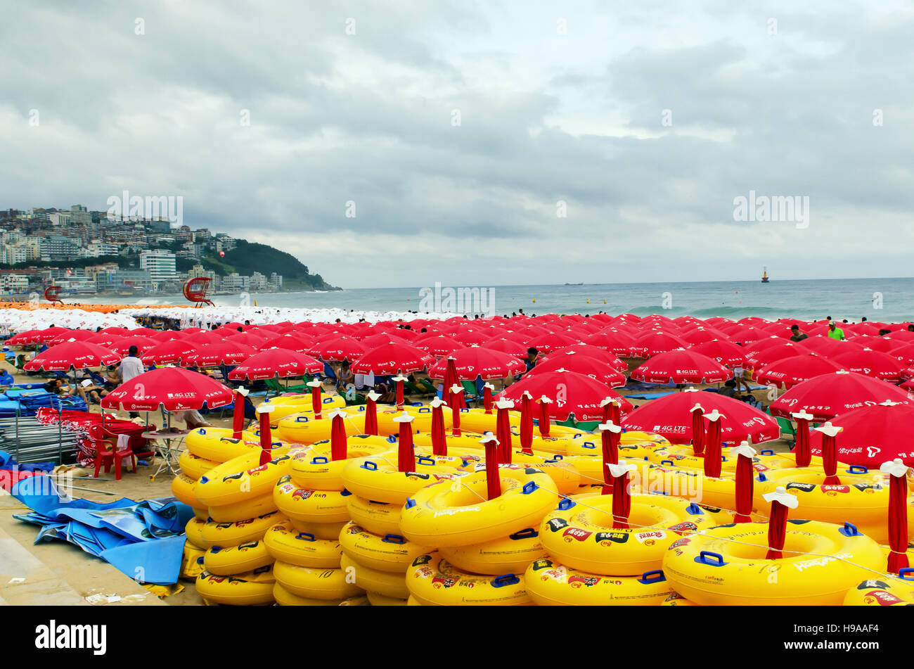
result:
<svg viewBox="0 0 914 669"><path fill-rule="evenodd" d="M452 293L449 293L448 290ZM460 290L462 289L462 290ZM451 297L449 298L449 294ZM806 279L756 281L650 281L582 285L441 285L408 288L351 288L327 292L265 292L212 295L214 303L237 306L377 312L454 311L473 316L520 313L664 313L671 317L761 316L771 320L902 322L914 318L914 278ZM449 299L455 308L447 307ZM85 296L67 302L186 304L181 295ZM437 302L436 302L437 301Z"/></svg>

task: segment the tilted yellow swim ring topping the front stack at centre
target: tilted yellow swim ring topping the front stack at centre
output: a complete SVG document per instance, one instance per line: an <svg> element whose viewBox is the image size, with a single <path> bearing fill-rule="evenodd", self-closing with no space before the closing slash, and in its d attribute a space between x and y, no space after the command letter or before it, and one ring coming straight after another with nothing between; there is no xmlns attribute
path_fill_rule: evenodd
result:
<svg viewBox="0 0 914 669"><path fill-rule="evenodd" d="M484 471L422 488L400 516L403 536L424 546L473 546L538 526L556 501L552 479L512 464L498 474L502 494L492 500Z"/></svg>

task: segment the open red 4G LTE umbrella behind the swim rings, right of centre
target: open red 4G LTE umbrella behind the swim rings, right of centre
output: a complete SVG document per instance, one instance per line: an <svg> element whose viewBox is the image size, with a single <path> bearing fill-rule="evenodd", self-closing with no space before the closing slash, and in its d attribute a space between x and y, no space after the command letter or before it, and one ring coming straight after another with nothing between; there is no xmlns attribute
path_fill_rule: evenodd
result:
<svg viewBox="0 0 914 669"><path fill-rule="evenodd" d="M705 413L714 409L723 414L721 435L723 441L752 443L772 441L781 436L778 421L767 413L755 409L739 399L728 398L717 393L686 388L664 398L652 399L632 411L622 420L626 430L643 430L663 435L673 443L692 441L692 409L701 405Z"/></svg>

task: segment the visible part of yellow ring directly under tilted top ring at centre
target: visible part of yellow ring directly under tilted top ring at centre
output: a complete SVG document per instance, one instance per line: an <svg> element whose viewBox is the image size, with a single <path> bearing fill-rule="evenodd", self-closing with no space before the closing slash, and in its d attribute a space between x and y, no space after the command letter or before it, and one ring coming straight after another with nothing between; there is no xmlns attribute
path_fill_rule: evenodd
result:
<svg viewBox="0 0 914 669"><path fill-rule="evenodd" d="M490 576L522 573L531 562L546 557L539 532L533 527L484 544L440 548L438 552L458 569Z"/></svg>

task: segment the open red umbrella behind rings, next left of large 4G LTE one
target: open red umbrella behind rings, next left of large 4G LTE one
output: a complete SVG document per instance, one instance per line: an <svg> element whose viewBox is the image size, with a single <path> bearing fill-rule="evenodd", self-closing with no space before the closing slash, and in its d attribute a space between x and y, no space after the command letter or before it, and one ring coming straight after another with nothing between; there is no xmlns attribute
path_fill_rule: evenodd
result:
<svg viewBox="0 0 914 669"><path fill-rule="evenodd" d="M632 410L632 403L621 395L617 395L606 384L575 372L527 375L502 390L496 398L519 402L525 390L529 391L534 398L538 399L545 395L551 399L549 415L557 420L566 420L571 414L574 414L576 420L601 420L603 408L600 407L600 402L605 398L618 399L622 404L623 414Z"/></svg>

